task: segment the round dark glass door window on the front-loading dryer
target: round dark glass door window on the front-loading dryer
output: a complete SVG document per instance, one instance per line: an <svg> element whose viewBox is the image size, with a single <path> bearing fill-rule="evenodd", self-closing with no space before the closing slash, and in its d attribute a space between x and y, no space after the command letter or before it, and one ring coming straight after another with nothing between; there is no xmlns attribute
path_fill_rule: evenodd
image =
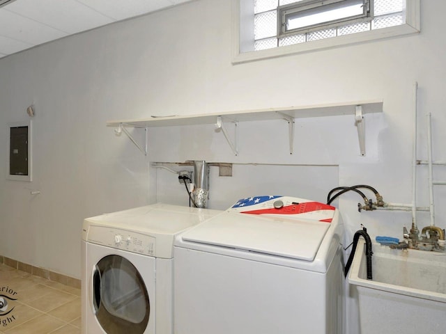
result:
<svg viewBox="0 0 446 334"><path fill-rule="evenodd" d="M118 255L103 257L93 273L96 317L109 334L142 334L150 316L150 301L141 274Z"/></svg>

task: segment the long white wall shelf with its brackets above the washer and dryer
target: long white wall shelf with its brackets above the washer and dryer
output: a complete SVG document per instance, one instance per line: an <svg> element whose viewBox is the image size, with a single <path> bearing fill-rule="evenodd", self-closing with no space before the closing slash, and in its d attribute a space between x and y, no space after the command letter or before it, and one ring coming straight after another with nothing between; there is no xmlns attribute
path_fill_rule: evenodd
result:
<svg viewBox="0 0 446 334"><path fill-rule="evenodd" d="M221 129L234 154L238 154L237 131L238 122L258 120L285 120L289 124L290 154L293 154L294 120L295 118L314 118L327 116L352 115L355 119L358 138L360 141L360 154L365 155L364 114L383 112L382 100L356 101L335 104L315 104L312 106L290 106L287 108L268 108L249 111L233 111L225 113L207 113L202 115L174 115L151 116L139 120L112 120L107 122L109 127L174 127L183 125L215 125ZM225 122L235 125L235 138L231 141L225 128ZM129 135L129 134L128 134ZM135 143L134 139L130 139ZM136 144L135 144L136 145Z"/></svg>

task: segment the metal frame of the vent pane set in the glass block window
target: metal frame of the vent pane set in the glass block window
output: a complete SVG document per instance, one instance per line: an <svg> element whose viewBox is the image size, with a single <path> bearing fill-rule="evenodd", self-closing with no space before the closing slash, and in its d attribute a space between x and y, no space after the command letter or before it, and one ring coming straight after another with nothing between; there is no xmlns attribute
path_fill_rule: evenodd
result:
<svg viewBox="0 0 446 334"><path fill-rule="evenodd" d="M362 14L342 17L330 21L302 26L296 29L287 29L289 17L306 17L318 13L324 13L326 10L340 9L351 4L362 3ZM277 7L277 38L284 38L298 33L308 33L321 29L329 29L339 24L349 24L356 22L370 22L374 18L374 1L370 0L303 0L297 3Z"/></svg>

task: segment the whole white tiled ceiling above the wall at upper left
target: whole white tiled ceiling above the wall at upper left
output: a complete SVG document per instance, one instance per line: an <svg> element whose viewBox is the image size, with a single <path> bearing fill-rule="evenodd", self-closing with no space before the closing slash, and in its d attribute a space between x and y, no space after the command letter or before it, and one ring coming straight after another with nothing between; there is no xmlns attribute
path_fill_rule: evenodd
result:
<svg viewBox="0 0 446 334"><path fill-rule="evenodd" d="M0 7L0 58L191 0L14 0Z"/></svg>

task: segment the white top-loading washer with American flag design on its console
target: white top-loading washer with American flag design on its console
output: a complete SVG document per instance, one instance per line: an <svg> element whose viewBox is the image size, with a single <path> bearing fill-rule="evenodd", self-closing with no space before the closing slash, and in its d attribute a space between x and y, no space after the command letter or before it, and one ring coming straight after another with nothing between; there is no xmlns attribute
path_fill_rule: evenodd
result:
<svg viewBox="0 0 446 334"><path fill-rule="evenodd" d="M342 237L337 209L282 196L245 198L180 234L175 333L341 334Z"/></svg>

